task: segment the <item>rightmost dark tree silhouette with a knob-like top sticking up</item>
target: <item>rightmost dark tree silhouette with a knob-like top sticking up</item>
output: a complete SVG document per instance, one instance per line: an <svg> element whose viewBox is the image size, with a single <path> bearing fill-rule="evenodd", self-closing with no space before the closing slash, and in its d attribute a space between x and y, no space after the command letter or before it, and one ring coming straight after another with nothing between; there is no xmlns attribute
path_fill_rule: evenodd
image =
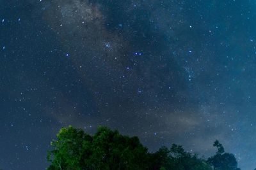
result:
<svg viewBox="0 0 256 170"><path fill-rule="evenodd" d="M236 157L232 153L225 153L221 143L216 140L213 144L217 148L214 156L210 157L207 162L214 167L214 170L238 170Z"/></svg>

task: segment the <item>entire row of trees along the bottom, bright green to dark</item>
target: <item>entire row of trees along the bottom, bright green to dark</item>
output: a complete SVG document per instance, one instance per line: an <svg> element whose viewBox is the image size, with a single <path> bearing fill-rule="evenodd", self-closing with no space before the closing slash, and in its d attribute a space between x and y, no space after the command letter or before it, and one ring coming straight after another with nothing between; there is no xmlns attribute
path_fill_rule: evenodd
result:
<svg viewBox="0 0 256 170"><path fill-rule="evenodd" d="M219 141L218 149L208 160L186 152L180 145L163 146L148 152L137 137L128 137L99 127L93 136L82 129L62 128L52 141L47 159L48 170L238 170L231 153L225 153Z"/></svg>

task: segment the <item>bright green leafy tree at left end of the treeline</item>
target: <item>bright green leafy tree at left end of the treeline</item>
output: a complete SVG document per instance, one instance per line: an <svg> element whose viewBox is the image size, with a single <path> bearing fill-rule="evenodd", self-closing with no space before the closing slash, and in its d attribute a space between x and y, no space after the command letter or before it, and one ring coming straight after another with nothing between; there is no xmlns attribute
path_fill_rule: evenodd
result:
<svg viewBox="0 0 256 170"><path fill-rule="evenodd" d="M82 169L84 157L91 153L91 142L92 137L81 129L62 128L57 140L51 142L53 150L47 154L51 162L48 169Z"/></svg>

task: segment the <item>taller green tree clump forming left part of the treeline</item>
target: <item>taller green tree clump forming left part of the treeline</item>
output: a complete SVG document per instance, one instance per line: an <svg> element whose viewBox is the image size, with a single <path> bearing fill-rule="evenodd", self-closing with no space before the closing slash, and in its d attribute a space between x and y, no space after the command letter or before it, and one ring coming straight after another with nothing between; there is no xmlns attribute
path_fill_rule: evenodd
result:
<svg viewBox="0 0 256 170"><path fill-rule="evenodd" d="M149 169L149 153L137 137L99 127L94 136L73 127L62 128L47 159L53 169Z"/></svg>

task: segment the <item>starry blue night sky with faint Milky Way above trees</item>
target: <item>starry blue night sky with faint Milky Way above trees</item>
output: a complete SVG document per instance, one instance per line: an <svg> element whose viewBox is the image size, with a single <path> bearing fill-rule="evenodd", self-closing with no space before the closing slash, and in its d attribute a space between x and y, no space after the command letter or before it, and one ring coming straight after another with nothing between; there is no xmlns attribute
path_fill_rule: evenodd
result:
<svg viewBox="0 0 256 170"><path fill-rule="evenodd" d="M256 1L0 0L0 167L47 167L61 127L256 167Z"/></svg>

